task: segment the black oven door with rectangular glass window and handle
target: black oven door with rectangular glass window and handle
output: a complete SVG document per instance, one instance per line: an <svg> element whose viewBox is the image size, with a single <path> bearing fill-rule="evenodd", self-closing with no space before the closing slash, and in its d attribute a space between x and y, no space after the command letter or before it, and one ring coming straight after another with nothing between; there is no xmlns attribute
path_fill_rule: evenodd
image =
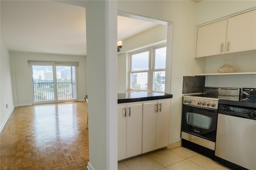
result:
<svg viewBox="0 0 256 170"><path fill-rule="evenodd" d="M183 105L181 131L215 142L217 109Z"/></svg>

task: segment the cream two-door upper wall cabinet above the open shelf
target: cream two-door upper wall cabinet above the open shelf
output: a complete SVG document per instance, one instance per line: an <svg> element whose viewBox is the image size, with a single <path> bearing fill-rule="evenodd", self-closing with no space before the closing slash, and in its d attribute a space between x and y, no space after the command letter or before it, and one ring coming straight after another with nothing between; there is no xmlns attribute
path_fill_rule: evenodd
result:
<svg viewBox="0 0 256 170"><path fill-rule="evenodd" d="M256 10L201 26L196 57L256 50Z"/></svg>

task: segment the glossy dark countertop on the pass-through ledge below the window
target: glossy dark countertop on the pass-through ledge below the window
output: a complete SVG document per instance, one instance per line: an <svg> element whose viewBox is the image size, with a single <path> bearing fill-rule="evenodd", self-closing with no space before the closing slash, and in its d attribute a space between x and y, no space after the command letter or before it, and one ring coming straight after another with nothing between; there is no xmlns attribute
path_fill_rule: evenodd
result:
<svg viewBox="0 0 256 170"><path fill-rule="evenodd" d="M152 93L152 92L127 92L118 93L117 103L130 103L137 101L149 101L159 99L170 99L172 95L164 93Z"/></svg>

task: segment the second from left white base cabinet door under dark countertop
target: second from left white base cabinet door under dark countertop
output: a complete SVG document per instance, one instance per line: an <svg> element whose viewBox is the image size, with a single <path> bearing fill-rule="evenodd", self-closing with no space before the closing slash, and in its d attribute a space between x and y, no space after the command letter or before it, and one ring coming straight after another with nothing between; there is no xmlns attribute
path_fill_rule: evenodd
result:
<svg viewBox="0 0 256 170"><path fill-rule="evenodd" d="M126 106L126 158L142 153L142 104Z"/></svg>

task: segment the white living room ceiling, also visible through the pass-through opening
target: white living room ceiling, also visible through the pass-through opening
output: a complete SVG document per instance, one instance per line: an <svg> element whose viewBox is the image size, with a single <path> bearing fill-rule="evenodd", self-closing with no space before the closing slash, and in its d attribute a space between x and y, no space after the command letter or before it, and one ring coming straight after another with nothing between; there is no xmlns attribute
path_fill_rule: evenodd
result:
<svg viewBox="0 0 256 170"><path fill-rule="evenodd" d="M10 51L86 55L85 8L48 0L0 3L0 38ZM156 25L118 16L118 40Z"/></svg>

